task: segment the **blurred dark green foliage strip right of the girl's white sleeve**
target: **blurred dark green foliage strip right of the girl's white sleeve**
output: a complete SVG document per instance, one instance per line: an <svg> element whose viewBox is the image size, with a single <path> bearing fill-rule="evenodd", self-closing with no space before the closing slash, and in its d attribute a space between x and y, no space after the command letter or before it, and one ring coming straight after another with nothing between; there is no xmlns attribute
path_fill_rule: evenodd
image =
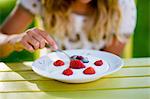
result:
<svg viewBox="0 0 150 99"><path fill-rule="evenodd" d="M137 26L134 35L133 57L150 56L150 0L137 1Z"/></svg>

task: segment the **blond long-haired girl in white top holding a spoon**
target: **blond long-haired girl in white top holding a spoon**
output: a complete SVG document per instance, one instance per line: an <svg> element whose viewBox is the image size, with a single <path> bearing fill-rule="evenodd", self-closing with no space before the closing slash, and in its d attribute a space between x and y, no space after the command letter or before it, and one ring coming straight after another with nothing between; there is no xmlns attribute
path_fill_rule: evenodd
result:
<svg viewBox="0 0 150 99"><path fill-rule="evenodd" d="M25 31L37 15L44 30ZM0 49L20 50L16 45L21 44L33 52L49 44L54 49L95 49L120 55L135 23L134 0L20 0L1 26Z"/></svg>

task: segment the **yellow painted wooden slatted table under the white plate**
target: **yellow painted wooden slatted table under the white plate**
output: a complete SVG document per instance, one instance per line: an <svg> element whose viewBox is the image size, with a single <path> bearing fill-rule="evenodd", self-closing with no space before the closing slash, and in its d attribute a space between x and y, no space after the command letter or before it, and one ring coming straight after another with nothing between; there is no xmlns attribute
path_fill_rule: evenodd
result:
<svg viewBox="0 0 150 99"><path fill-rule="evenodd" d="M150 58L124 60L95 82L66 84L43 78L30 63L0 63L0 99L150 99Z"/></svg>

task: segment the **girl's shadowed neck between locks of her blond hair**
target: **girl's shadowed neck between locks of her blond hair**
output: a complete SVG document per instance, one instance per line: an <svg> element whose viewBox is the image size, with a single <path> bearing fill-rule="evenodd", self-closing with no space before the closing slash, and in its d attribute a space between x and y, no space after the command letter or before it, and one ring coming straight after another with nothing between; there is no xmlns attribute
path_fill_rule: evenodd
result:
<svg viewBox="0 0 150 99"><path fill-rule="evenodd" d="M74 13L83 15L89 14L91 11L88 4L83 4L81 2L78 2L78 0L72 5L72 10Z"/></svg>

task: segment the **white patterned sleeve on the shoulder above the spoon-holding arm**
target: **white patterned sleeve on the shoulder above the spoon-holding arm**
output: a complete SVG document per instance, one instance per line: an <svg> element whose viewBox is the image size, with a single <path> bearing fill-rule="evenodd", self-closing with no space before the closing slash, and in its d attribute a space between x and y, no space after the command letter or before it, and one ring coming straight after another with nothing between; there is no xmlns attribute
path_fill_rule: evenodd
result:
<svg viewBox="0 0 150 99"><path fill-rule="evenodd" d="M20 0L19 4L32 14L41 13L41 0Z"/></svg>

